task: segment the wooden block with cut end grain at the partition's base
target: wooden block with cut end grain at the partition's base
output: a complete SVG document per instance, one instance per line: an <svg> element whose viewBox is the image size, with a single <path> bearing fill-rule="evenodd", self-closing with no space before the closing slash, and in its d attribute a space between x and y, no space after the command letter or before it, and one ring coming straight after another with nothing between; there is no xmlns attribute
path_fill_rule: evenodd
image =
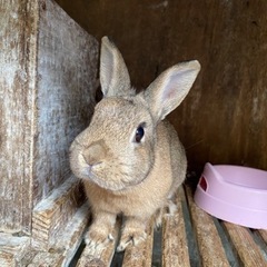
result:
<svg viewBox="0 0 267 267"><path fill-rule="evenodd" d="M81 205L80 181L71 176L33 209L32 238L37 248L49 249Z"/></svg>

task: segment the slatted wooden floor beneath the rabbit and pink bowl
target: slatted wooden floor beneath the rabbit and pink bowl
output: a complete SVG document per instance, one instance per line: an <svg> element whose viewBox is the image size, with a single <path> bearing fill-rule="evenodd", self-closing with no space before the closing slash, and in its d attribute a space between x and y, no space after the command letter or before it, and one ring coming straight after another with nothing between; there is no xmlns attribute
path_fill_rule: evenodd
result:
<svg viewBox="0 0 267 267"><path fill-rule="evenodd" d="M160 230L151 226L146 243L120 254L115 253L115 245L102 251L83 246L71 266L267 266L267 230L251 230L209 216L195 205L188 186L179 189L177 202L177 212L165 215Z"/></svg>

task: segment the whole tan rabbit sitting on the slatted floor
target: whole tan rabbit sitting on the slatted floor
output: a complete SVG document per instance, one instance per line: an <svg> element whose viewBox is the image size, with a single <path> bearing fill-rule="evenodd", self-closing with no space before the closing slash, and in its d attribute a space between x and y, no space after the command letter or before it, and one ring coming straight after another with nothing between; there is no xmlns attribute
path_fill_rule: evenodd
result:
<svg viewBox="0 0 267 267"><path fill-rule="evenodd" d="M91 248L115 241L112 230L123 216L117 251L147 237L152 216L175 210L172 197L186 177L187 159L175 128L165 117L190 90L200 65L197 60L164 71L138 93L118 48L101 39L102 100L90 125L70 146L70 168L82 179L92 211L86 234Z"/></svg>

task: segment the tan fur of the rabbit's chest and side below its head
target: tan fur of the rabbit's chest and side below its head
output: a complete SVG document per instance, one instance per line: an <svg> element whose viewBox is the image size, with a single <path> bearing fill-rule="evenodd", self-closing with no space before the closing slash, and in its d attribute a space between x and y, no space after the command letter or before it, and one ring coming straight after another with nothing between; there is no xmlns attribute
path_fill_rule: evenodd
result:
<svg viewBox="0 0 267 267"><path fill-rule="evenodd" d="M91 181L85 181L92 209L147 218L158 208L164 207L174 189L171 187L178 187L182 182L182 179L178 181L179 174L174 175L174 169L177 170L177 168L174 168L172 164L179 160L180 152L184 152L178 138L175 137L175 130L167 122L158 125L154 167L146 179L137 186L113 192ZM171 147L177 150L175 151Z"/></svg>

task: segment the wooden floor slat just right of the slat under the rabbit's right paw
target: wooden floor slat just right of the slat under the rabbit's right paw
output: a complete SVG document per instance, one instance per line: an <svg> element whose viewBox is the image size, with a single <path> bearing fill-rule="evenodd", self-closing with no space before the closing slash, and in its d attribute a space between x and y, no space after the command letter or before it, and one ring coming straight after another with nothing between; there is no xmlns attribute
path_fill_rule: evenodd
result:
<svg viewBox="0 0 267 267"><path fill-rule="evenodd" d="M165 215L162 224L162 266L189 267L189 251L186 236L181 201L185 198L184 188L178 189L177 211Z"/></svg>

